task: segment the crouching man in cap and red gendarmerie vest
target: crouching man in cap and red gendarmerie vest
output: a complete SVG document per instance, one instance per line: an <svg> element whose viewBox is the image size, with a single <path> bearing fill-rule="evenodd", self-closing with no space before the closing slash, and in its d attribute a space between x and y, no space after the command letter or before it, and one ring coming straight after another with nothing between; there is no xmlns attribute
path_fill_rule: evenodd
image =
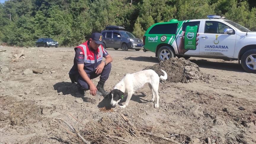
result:
<svg viewBox="0 0 256 144"><path fill-rule="evenodd" d="M74 65L69 71L71 82L77 82L79 92L84 94L90 90L91 95L96 95L96 91L102 93L103 97L109 94L105 91L104 84L111 71L112 57L103 48L103 36L100 33L93 33L91 38L79 46L75 47ZM105 61L102 62L103 57ZM100 76L97 86L91 79Z"/></svg>

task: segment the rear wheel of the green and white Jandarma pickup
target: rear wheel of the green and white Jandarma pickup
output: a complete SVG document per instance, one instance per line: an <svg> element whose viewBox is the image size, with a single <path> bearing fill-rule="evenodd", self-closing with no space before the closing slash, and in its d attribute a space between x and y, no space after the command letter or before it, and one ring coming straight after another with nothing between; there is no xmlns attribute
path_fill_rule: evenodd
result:
<svg viewBox="0 0 256 144"><path fill-rule="evenodd" d="M168 46L160 47L160 49L157 52L157 58L158 58L159 62L164 61L164 60L168 60L172 57L175 57L174 52Z"/></svg>

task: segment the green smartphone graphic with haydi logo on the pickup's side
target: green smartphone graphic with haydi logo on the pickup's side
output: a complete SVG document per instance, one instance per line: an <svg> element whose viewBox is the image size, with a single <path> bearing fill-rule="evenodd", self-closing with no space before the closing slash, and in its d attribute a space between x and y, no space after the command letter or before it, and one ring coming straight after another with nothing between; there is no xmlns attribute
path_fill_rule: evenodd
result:
<svg viewBox="0 0 256 144"><path fill-rule="evenodd" d="M196 33L198 26L187 26L184 37L184 49L196 50Z"/></svg>

